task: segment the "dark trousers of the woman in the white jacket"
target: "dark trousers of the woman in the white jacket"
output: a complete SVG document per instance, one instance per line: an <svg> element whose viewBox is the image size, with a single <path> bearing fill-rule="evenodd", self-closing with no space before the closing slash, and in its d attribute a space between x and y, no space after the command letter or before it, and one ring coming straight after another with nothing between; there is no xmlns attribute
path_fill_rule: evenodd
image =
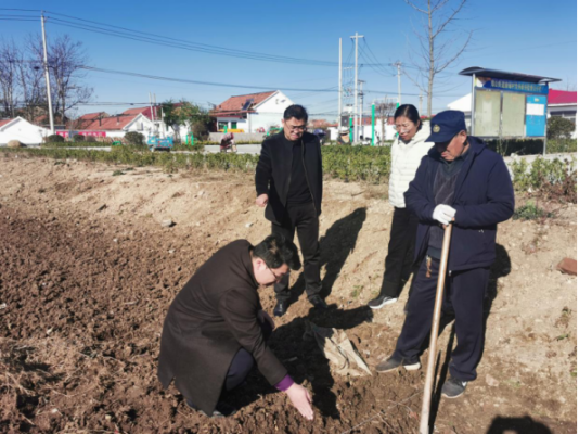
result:
<svg viewBox="0 0 579 434"><path fill-rule="evenodd" d="M407 208L394 208L390 242L379 295L398 298L414 263L419 218Z"/></svg>

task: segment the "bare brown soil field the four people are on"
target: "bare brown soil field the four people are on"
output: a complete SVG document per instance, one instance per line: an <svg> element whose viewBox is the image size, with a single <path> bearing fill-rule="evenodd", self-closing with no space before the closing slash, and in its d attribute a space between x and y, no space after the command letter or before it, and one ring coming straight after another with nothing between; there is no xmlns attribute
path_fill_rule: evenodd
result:
<svg viewBox="0 0 579 434"><path fill-rule="evenodd" d="M115 174L115 175L113 175ZM299 272L295 303L271 347L312 391L303 420L259 372L228 397L231 418L207 419L156 378L163 320L196 268L236 239L270 230L250 174L177 173L0 154L0 432L414 433L424 368L377 374L396 344L408 288L370 311L381 285L391 206L386 186L326 180L322 278L331 309L310 309ZM525 199L519 201L524 204ZM500 227L486 348L478 379L440 399L452 323L439 341L436 433L575 433L577 206ZM175 225L164 227L164 220ZM265 308L272 289L261 289ZM373 371L336 373L308 321L346 331ZM422 361L425 365L427 352Z"/></svg>

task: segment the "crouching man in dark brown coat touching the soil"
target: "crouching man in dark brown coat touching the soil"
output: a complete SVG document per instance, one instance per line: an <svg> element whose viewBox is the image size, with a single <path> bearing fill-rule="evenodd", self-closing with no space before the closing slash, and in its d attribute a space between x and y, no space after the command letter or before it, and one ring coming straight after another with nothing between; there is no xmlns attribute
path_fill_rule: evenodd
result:
<svg viewBox="0 0 579 434"><path fill-rule="evenodd" d="M228 416L234 409L220 401L222 393L240 385L255 363L311 420L309 393L293 382L267 346L274 324L257 293L259 285L271 285L299 267L297 247L278 234L255 247L234 241L211 256L169 307L160 339L163 386L175 379L190 407Z"/></svg>

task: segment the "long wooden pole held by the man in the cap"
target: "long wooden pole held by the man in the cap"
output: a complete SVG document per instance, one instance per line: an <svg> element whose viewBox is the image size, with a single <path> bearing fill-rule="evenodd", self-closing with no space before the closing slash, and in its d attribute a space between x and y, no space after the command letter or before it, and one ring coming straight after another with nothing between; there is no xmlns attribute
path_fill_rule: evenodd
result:
<svg viewBox="0 0 579 434"><path fill-rule="evenodd" d="M424 395L422 398L421 412L421 434L429 434L428 420L430 419L430 401L433 398L433 384L435 376L436 345L438 341L438 329L440 327L440 312L442 309L442 296L445 295L445 283L448 267L448 253L450 250L450 237L452 234L452 224L445 228L445 240L442 241L442 253L440 256L440 269L438 270L438 284L436 286L436 301L433 315L433 328L430 330L430 344L428 345L428 366L426 370L426 382L424 383Z"/></svg>

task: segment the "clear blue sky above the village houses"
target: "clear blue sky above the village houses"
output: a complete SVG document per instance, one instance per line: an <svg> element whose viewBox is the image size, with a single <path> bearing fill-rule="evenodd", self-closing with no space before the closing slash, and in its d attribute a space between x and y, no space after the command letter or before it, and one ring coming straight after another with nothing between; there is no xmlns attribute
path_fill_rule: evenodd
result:
<svg viewBox="0 0 579 434"><path fill-rule="evenodd" d="M416 0L420 2L422 0ZM451 0L456 2L458 0ZM337 113L337 66L316 66L263 62L215 55L177 48L159 47L140 41L120 39L51 21L69 20L54 13L81 20L101 22L139 31L149 31L191 42L219 46L232 50L253 51L327 62L338 61L338 39L343 38L344 58L348 59L353 42L350 36L364 36L360 42L365 59L402 67L413 75L412 54L414 30L422 17L403 0L346 2L330 0L229 1L220 2L163 2L143 0L77 2L2 0L0 8L48 10L49 40L68 34L83 43L89 65L106 69L127 71L155 76L183 78L221 84L260 86L266 88L298 88L310 91L284 91L294 102L306 105L317 118L333 119ZM52 14L51 14L52 13ZM0 16L38 12L0 10ZM515 71L526 74L561 78L554 88L577 89L577 3L574 0L471 0L454 26L452 38L461 40L474 30L468 51L441 76L435 93L434 111L440 111L469 92L471 82L456 75L469 66ZM88 23L86 23L88 24ZM0 21L0 39L22 41L27 34L40 31L37 22ZM377 71L376 71L377 69ZM366 106L372 100L397 97L397 78L389 66L360 68L359 78L368 93ZM350 73L345 72L349 78ZM218 104L232 94L244 94L262 89L214 87L179 84L91 72L83 79L94 88L94 102L145 102L149 92L157 101L186 99L206 105ZM336 89L320 92L321 89ZM420 90L402 76L402 102L417 105ZM100 108L108 113L121 112L129 106L83 106L78 114ZM426 102L424 102L424 111Z"/></svg>

